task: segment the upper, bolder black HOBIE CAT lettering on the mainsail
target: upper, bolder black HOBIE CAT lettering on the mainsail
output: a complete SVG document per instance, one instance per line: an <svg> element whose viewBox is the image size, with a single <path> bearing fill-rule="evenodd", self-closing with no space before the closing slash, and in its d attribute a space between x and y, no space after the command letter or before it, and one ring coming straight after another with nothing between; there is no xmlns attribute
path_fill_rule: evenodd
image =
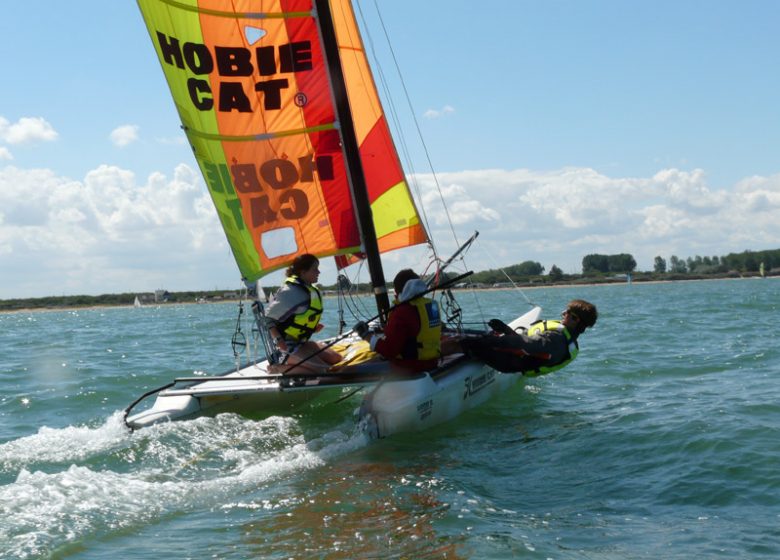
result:
<svg viewBox="0 0 780 560"><path fill-rule="evenodd" d="M255 28L255 35L263 31ZM262 35L256 37L259 40ZM269 45L248 49L245 47L209 48L202 43L181 43L176 37L157 32L161 61L180 70L189 70L195 76L216 74L225 78L218 82L217 91L208 80L187 79L187 92L192 105L200 111L251 113L251 98L260 93L263 109L282 108L282 92L290 88L287 78L279 74L308 72L314 68L311 41L294 41L283 45ZM213 50L212 50L213 49ZM260 76L268 78L254 83L254 91L244 90L245 84L230 78Z"/></svg>

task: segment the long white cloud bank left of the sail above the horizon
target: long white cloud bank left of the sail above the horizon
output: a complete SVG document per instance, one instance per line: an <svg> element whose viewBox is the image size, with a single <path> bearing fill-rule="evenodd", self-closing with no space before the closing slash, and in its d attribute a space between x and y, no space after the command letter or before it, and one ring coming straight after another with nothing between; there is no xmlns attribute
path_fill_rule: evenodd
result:
<svg viewBox="0 0 780 560"><path fill-rule="evenodd" d="M219 282L214 273L238 276L202 179L184 164L141 183L106 165L83 181L7 166L0 209L0 299L197 289Z"/></svg>

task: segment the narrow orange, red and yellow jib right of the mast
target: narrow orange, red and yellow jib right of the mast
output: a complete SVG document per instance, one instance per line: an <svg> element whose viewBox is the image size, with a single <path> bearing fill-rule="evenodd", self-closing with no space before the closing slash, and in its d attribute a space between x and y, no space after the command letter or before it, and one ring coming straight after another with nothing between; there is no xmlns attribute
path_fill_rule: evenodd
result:
<svg viewBox="0 0 780 560"><path fill-rule="evenodd" d="M331 0L380 252L428 241L387 126L349 0Z"/></svg>

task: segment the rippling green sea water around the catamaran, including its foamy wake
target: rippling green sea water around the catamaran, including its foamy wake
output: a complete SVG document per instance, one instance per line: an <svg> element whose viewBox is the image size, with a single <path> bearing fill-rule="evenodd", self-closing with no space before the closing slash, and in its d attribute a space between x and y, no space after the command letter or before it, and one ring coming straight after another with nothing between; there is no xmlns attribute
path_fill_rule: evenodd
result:
<svg viewBox="0 0 780 560"><path fill-rule="evenodd" d="M0 558L780 557L780 280L525 294L599 307L577 361L378 441L359 397L126 430L230 367L232 305L0 315Z"/></svg>

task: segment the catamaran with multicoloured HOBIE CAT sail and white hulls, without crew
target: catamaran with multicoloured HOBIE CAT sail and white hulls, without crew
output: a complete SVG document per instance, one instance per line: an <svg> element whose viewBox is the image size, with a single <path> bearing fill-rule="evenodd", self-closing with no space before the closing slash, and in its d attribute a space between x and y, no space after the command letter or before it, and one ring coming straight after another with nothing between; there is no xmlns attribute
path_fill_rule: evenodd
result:
<svg viewBox="0 0 780 560"><path fill-rule="evenodd" d="M346 357L332 370L269 368L275 353L259 280L296 256L365 264L381 325L391 310L381 255L427 243L430 291L452 310L447 336L468 331L444 273L454 257L438 257L420 219L349 0L138 5L253 299L254 344L237 329L235 367L148 391L125 411L130 428L221 412L285 413L362 390L359 422L384 437L449 420L517 382L457 353L434 370L399 376L351 332L328 341ZM532 306L510 326L528 327L540 312ZM485 332L484 322L477 331ZM153 395L151 407L131 414Z"/></svg>

